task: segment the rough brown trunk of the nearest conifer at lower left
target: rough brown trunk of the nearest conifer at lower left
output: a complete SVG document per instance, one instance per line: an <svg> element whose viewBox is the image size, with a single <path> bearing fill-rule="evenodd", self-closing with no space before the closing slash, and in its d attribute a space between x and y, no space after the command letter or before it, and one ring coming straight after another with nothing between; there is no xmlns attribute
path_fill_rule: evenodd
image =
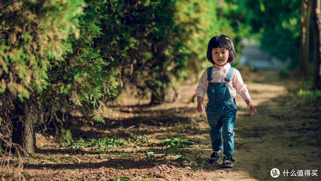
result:
<svg viewBox="0 0 321 181"><path fill-rule="evenodd" d="M25 103L16 102L16 117L12 119L12 142L19 144L27 153L36 149L36 133L31 111Z"/></svg>

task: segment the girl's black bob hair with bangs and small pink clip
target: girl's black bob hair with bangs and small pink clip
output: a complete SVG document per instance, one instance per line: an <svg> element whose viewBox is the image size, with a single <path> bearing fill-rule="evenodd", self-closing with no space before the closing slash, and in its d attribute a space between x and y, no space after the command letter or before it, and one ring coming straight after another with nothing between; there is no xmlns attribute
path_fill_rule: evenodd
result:
<svg viewBox="0 0 321 181"><path fill-rule="evenodd" d="M227 48L229 50L230 58L227 60L228 63L236 60L236 53L233 42L226 35L216 35L208 42L207 46L207 59L214 65L212 50L214 48Z"/></svg>

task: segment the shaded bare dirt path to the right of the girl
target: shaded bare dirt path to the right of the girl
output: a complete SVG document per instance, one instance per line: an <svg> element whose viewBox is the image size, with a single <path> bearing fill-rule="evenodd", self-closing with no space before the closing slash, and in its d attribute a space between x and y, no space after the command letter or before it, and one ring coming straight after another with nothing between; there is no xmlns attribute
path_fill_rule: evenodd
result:
<svg viewBox="0 0 321 181"><path fill-rule="evenodd" d="M240 114L235 125L239 127L236 154L242 155L238 159L241 169L258 180L272 180L269 173L273 168L281 172L275 178L278 180L319 180L305 173L321 168L320 102L291 96L286 87L293 82L272 77L278 86L248 84L255 93L252 99L256 100L258 113L253 117Z"/></svg>

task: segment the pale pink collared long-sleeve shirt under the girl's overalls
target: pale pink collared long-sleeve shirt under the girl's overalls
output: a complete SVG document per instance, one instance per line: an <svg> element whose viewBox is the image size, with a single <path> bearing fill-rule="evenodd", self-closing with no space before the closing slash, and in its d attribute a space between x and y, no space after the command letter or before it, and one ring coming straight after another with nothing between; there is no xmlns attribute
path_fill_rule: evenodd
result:
<svg viewBox="0 0 321 181"><path fill-rule="evenodd" d="M211 82L226 82L225 78L228 74L230 67L231 65L229 63L227 63L223 67L213 65L212 74L211 74L213 79ZM207 86L208 86L207 69L205 69L201 78L198 80L198 83L199 84L196 88L196 95L204 98L205 93L207 92ZM229 87L231 98L235 97L236 92L238 92L239 95L241 95L244 101L250 98L246 85L243 83L241 74L239 73L239 70L235 68L231 76L231 81L228 83L228 87ZM207 96L207 99L208 99L208 96Z"/></svg>

